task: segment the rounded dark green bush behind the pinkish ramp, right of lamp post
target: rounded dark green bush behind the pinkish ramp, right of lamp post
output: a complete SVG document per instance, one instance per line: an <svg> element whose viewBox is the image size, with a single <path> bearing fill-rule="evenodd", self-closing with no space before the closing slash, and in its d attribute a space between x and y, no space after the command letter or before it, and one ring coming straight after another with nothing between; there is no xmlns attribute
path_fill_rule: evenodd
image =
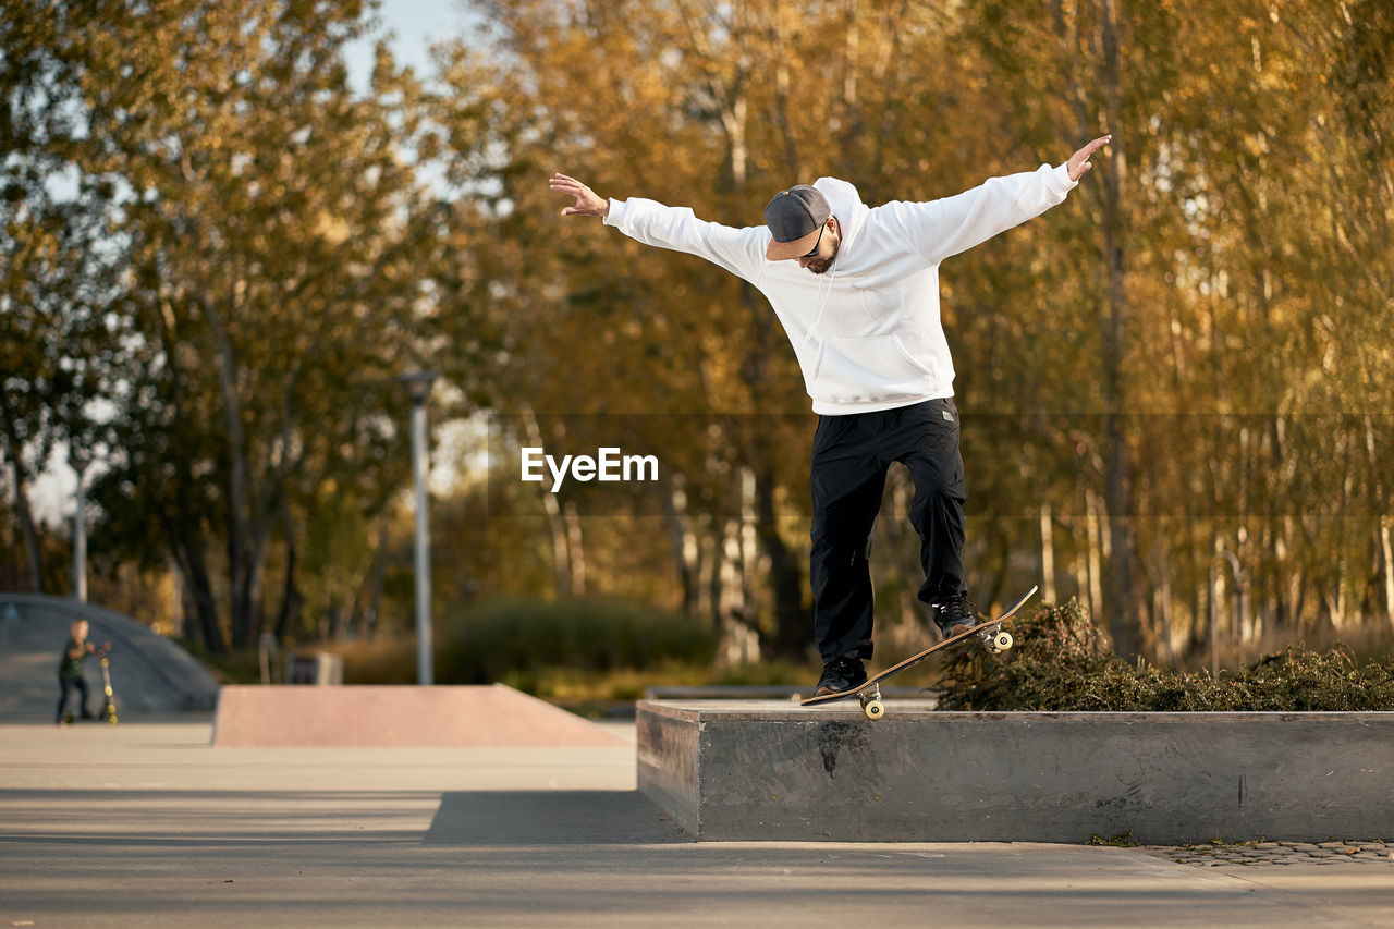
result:
<svg viewBox="0 0 1394 929"><path fill-rule="evenodd" d="M445 618L436 679L537 692L537 682L558 670L590 675L707 665L715 653L715 632L689 617L599 600L498 598Z"/></svg>

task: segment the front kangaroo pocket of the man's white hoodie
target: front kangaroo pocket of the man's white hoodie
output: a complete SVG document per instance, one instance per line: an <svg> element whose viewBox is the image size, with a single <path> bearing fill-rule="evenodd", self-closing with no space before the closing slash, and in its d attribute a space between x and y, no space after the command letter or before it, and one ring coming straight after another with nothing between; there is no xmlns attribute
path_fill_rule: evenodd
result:
<svg viewBox="0 0 1394 929"><path fill-rule="evenodd" d="M934 370L910 354L896 335L827 339L809 395L829 403L868 403L934 392Z"/></svg>

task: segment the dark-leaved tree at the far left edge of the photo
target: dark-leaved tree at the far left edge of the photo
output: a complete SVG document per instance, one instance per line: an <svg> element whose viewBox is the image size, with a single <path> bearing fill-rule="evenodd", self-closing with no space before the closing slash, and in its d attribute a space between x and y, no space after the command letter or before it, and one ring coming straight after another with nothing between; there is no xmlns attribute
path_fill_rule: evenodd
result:
<svg viewBox="0 0 1394 929"><path fill-rule="evenodd" d="M95 441L89 405L121 333L109 312L120 264L112 190L77 166L86 131L72 80L79 54L63 28L46 3L0 6L0 456L40 593L29 483L54 445L88 451Z"/></svg>

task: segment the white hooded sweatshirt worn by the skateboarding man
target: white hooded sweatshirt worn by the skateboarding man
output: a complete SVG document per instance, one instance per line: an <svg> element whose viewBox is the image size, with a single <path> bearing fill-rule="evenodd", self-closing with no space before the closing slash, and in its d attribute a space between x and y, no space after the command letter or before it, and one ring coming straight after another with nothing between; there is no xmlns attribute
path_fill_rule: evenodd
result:
<svg viewBox="0 0 1394 929"><path fill-rule="evenodd" d="M611 199L605 225L647 246L700 255L765 294L793 343L813 410L841 416L953 396L940 321L940 262L1039 216L1076 186L1065 166L994 177L956 197L868 208L820 177L842 246L822 275L767 261L767 226L732 229L686 206Z"/></svg>

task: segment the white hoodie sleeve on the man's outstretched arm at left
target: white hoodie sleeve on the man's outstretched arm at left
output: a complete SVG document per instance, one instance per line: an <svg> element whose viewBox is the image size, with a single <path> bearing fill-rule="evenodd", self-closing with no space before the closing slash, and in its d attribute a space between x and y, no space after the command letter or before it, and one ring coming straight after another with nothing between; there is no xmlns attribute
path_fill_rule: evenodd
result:
<svg viewBox="0 0 1394 929"><path fill-rule="evenodd" d="M611 199L605 225L645 246L705 258L751 283L765 266L769 230L764 226L733 229L710 223L697 219L687 206L664 206L641 197Z"/></svg>

